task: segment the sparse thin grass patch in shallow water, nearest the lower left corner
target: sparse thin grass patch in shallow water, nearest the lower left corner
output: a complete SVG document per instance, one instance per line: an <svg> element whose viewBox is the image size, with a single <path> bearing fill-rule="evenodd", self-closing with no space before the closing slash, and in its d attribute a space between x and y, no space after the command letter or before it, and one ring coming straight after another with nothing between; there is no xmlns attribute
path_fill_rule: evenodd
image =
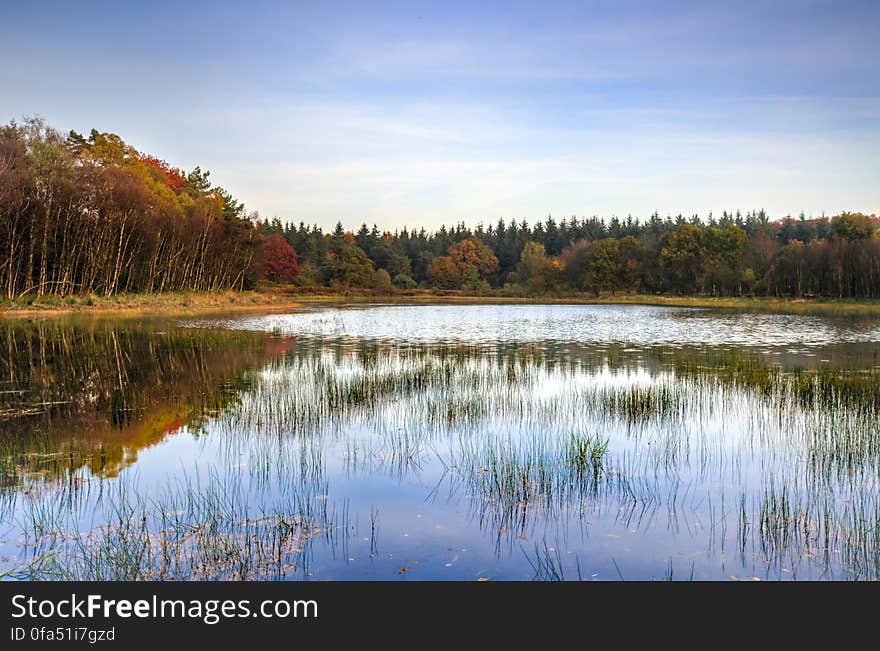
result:
<svg viewBox="0 0 880 651"><path fill-rule="evenodd" d="M93 502L102 516L35 499L23 529L31 558L15 578L62 580L273 580L308 576L312 541L332 541L336 512L326 487L302 475L271 503L254 503L240 475L184 477L157 496L120 481ZM348 523L345 523L348 526ZM347 535L348 532L343 532Z"/></svg>

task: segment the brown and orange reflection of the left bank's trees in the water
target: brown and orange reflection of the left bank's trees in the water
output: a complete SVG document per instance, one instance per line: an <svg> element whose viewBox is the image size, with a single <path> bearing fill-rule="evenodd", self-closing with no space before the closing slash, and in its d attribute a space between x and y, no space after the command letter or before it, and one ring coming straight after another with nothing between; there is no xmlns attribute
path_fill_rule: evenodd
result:
<svg viewBox="0 0 880 651"><path fill-rule="evenodd" d="M235 401L248 371L279 349L268 341L172 324L0 324L0 482L83 467L115 476Z"/></svg>

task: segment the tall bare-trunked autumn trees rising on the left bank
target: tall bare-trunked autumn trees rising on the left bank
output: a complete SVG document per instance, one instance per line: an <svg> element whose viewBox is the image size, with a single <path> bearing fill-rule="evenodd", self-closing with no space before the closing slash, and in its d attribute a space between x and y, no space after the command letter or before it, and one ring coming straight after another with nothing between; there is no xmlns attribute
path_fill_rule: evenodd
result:
<svg viewBox="0 0 880 651"><path fill-rule="evenodd" d="M260 235L209 173L185 174L119 136L0 126L0 291L45 294L242 288Z"/></svg>

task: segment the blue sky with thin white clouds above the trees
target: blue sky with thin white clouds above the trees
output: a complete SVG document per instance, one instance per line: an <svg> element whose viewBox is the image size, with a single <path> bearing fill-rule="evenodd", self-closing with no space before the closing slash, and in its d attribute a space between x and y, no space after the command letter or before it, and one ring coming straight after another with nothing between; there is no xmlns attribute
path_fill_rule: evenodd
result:
<svg viewBox="0 0 880 651"><path fill-rule="evenodd" d="M0 122L262 217L880 213L880 2L3 0Z"/></svg>

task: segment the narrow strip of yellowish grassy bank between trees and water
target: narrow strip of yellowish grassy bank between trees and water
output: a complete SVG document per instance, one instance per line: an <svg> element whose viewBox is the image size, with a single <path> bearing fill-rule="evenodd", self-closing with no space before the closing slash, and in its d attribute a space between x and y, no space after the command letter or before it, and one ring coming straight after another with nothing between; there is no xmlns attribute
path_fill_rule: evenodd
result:
<svg viewBox="0 0 880 651"><path fill-rule="evenodd" d="M415 290L390 295L369 291L348 294L330 290L299 293L284 289L260 291L174 292L120 294L118 296L46 296L0 303L0 318L52 316L70 313L187 316L220 312L291 309L306 303L451 303L451 304L576 304L662 305L710 307L786 314L880 316L880 300L825 298L767 298L712 296L657 296L652 294L593 294L506 296L500 293L469 294L454 291Z"/></svg>

